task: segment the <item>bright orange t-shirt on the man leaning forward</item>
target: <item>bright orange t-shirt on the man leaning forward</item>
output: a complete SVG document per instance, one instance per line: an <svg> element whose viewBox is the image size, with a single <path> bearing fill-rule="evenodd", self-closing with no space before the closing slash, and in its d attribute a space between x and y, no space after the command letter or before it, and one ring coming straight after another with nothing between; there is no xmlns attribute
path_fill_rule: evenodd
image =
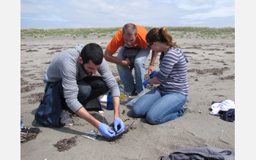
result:
<svg viewBox="0 0 256 160"><path fill-rule="evenodd" d="M148 44L146 42L146 34L148 33L148 31L145 28L143 28L143 26L136 25L136 27L137 27L138 36L136 37L135 42L132 44L132 47L148 48ZM108 50L112 54L115 54L119 47L124 47L125 42L124 42L124 36L122 31L123 31L123 28L121 28L121 30L119 30L116 33L116 35L108 44Z"/></svg>

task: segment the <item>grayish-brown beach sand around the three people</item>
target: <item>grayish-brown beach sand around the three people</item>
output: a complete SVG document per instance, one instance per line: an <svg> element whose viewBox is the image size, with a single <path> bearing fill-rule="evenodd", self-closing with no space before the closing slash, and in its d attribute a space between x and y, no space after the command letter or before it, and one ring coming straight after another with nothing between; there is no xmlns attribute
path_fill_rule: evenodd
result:
<svg viewBox="0 0 256 160"><path fill-rule="evenodd" d="M223 121L209 114L208 110L212 101L235 101L235 40L232 38L174 37L189 59L189 96L185 107L191 111L181 118L153 126L145 119L133 119L131 108L121 105L121 113L125 110L121 119L129 119L126 124L135 121L133 127L136 128L112 143L102 138L93 141L82 137L83 133L97 132L97 129L78 117L73 118L75 124L72 127L42 127L38 124L34 113L44 94L42 79L53 57L76 44L90 42L99 44L105 51L110 40L110 36L89 36L85 39L26 37L20 40L20 117L24 125L42 130L35 140L20 144L20 159L158 159L181 148L208 146L235 150L235 122ZM151 54L146 68L150 59ZM116 65L108 64L118 80ZM159 71L158 64L159 56L155 63L156 71ZM132 98L126 97L124 104ZM102 105L105 119L113 122L113 111L108 111L105 103ZM90 113L101 121L99 113ZM68 151L59 152L53 146L59 140L75 136L78 136L78 143Z"/></svg>

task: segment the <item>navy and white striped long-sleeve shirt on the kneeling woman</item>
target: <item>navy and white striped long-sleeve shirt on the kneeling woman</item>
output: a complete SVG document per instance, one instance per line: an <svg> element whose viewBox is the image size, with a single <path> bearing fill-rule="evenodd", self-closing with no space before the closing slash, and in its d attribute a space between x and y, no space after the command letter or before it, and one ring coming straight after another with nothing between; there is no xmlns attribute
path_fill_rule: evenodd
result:
<svg viewBox="0 0 256 160"><path fill-rule="evenodd" d="M159 60L157 79L162 82L159 85L160 89L164 92L180 92L183 95L188 95L188 60L184 52L178 47L170 47L165 54L162 52Z"/></svg>

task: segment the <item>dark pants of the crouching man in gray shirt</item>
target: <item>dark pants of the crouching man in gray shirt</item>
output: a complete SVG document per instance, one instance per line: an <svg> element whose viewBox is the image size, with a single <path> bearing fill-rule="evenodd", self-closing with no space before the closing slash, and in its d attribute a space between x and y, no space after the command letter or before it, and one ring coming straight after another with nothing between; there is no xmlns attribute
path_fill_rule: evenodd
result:
<svg viewBox="0 0 256 160"><path fill-rule="evenodd" d="M108 92L108 86L103 81L101 76L86 76L86 78L77 81L78 84L78 101L86 107L86 103L94 98L99 97L100 95L104 95ZM59 81L58 84L59 95L61 97L61 109L67 110L73 113L64 98L62 81Z"/></svg>

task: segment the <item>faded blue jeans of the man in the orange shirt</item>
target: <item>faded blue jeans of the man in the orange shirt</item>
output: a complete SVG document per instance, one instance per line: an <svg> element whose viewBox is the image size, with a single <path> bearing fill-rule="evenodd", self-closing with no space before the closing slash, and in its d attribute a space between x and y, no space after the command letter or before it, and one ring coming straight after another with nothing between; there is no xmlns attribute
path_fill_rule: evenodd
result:
<svg viewBox="0 0 256 160"><path fill-rule="evenodd" d="M120 60L125 60L123 56L124 47L121 47L117 58ZM120 76L122 84L124 84L125 92L132 92L135 89L138 93L143 91L143 81L145 76L145 63L149 55L150 49L140 48L140 52L135 56L134 68L135 68L135 79L132 76L132 71L124 65L116 65L118 74ZM136 83L135 83L136 81Z"/></svg>

